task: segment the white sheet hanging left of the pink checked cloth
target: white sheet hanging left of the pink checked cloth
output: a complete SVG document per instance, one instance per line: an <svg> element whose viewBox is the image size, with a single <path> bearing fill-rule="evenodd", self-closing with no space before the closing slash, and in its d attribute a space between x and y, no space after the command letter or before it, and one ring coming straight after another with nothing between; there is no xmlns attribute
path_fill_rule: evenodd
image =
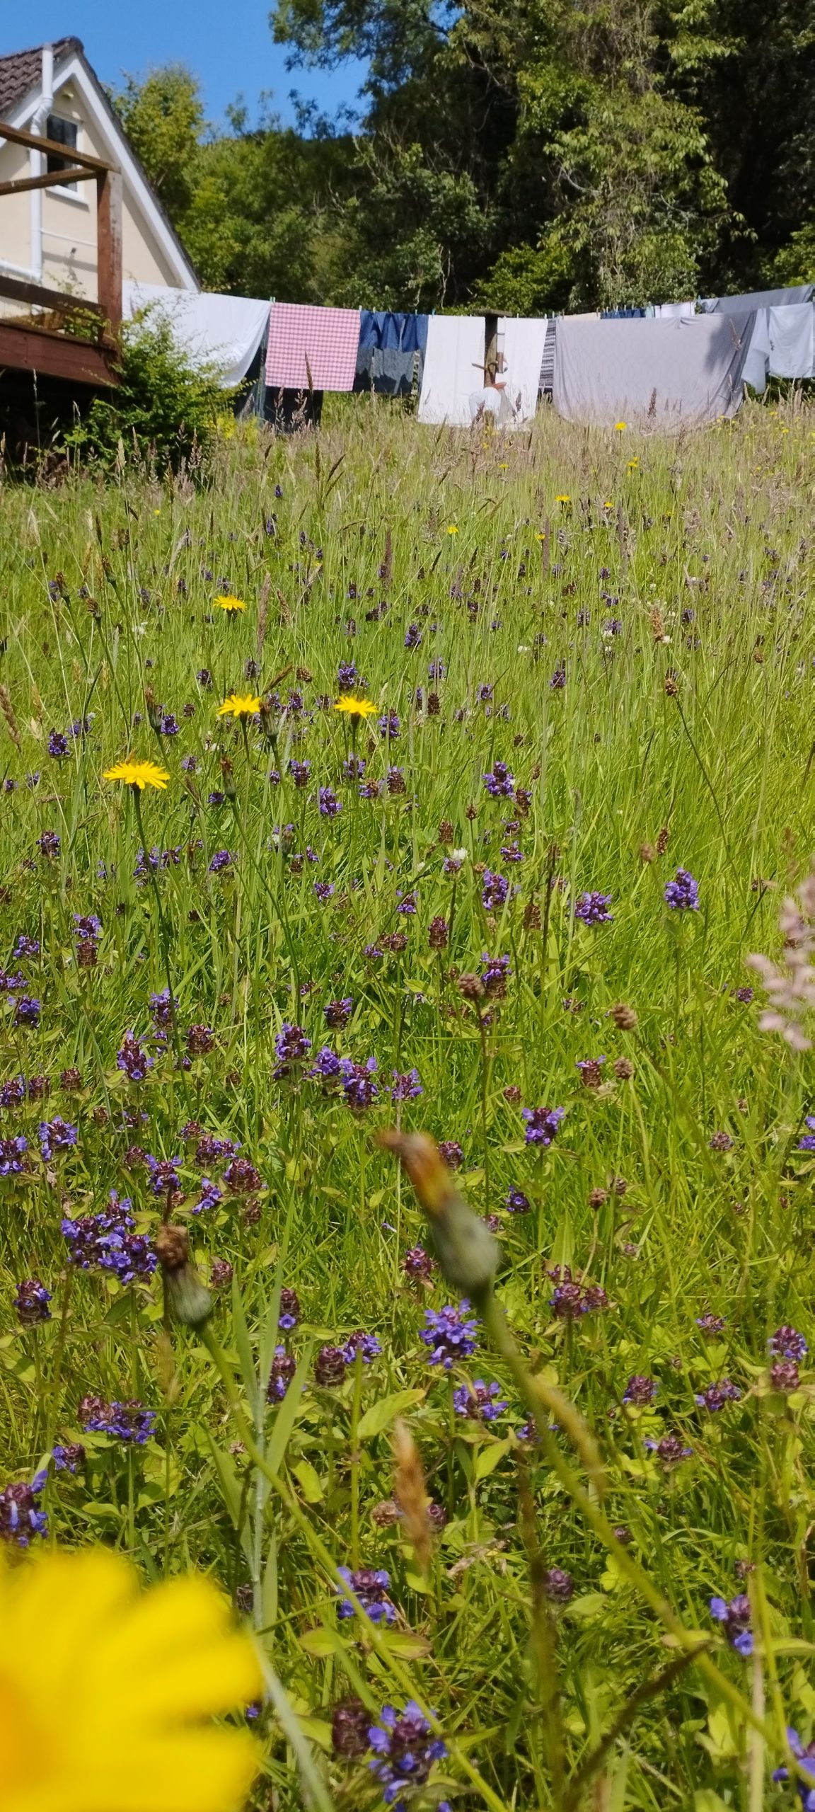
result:
<svg viewBox="0 0 815 1812"><path fill-rule="evenodd" d="M248 295L170 290L161 283L121 284L125 321L141 308L161 312L194 364L216 364L232 390L246 377L268 324L270 304Z"/></svg>

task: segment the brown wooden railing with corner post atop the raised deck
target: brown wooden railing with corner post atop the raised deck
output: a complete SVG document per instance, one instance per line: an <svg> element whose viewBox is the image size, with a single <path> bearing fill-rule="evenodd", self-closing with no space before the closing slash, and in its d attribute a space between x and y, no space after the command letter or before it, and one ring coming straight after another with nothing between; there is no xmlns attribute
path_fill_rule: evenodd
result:
<svg viewBox="0 0 815 1812"><path fill-rule="evenodd" d="M96 181L96 303L80 295L63 295L62 290L47 290L40 283L22 283L0 272L0 295L29 306L47 308L54 313L98 317L100 339L116 335L121 326L121 172L105 158L92 158L87 150L72 150L53 138L40 138L24 132L22 127L5 125L0 120L0 141L27 145L45 156L60 158L60 169L42 176L20 176L11 183L0 183L2 196L18 196L25 188L58 188L62 183Z"/></svg>

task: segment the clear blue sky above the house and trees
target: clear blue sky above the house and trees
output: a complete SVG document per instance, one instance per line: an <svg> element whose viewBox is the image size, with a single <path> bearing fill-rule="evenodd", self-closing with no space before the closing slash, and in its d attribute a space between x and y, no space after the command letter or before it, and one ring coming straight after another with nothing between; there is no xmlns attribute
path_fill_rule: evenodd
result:
<svg viewBox="0 0 815 1812"><path fill-rule="evenodd" d="M239 94L254 118L263 89L273 91L272 107L286 121L293 121L290 89L333 112L353 105L364 72L353 63L333 72L288 71L284 47L272 42L264 0L27 0L22 9L2 7L0 54L67 36L82 38L96 74L112 87L121 71L141 74L150 63L185 62L214 121Z"/></svg>

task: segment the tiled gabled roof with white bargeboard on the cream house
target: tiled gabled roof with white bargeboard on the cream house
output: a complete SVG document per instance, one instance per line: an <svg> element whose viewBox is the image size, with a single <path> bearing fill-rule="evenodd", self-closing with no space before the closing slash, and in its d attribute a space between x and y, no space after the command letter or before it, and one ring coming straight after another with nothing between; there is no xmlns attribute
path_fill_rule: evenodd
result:
<svg viewBox="0 0 815 1812"><path fill-rule="evenodd" d="M150 185L116 109L110 105L96 71L85 56L82 38L58 38L53 43L53 51L54 89L67 80L78 83L103 140L107 140L109 152L121 167L132 199L145 214L170 265L176 266L179 288L197 292L196 268ZM0 56L0 120L7 120L9 125L24 125L27 112L36 105L42 85L42 53L43 45L38 43L29 51L13 51L11 56Z"/></svg>

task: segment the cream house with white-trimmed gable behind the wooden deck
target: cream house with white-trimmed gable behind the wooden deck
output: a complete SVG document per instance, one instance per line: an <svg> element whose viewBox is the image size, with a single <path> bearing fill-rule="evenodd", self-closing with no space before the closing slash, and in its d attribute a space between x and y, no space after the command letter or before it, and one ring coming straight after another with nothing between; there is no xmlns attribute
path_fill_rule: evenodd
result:
<svg viewBox="0 0 815 1812"><path fill-rule="evenodd" d="M121 275L199 294L196 272L107 100L80 38L0 56L0 121L107 158L121 170ZM47 174L43 152L4 141L0 183ZM96 185L0 194L0 272L96 299Z"/></svg>

